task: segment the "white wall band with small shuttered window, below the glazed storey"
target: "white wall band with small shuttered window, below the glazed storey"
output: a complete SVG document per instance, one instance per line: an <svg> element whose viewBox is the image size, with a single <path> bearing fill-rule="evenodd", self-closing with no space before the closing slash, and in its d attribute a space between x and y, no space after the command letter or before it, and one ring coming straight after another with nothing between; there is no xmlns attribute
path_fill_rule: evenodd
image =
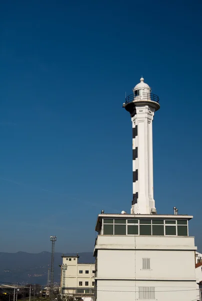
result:
<svg viewBox="0 0 202 301"><path fill-rule="evenodd" d="M142 270L142 258L150 269ZM107 271L107 274L106 274ZM194 252L167 250L98 250L98 278L195 280Z"/></svg>

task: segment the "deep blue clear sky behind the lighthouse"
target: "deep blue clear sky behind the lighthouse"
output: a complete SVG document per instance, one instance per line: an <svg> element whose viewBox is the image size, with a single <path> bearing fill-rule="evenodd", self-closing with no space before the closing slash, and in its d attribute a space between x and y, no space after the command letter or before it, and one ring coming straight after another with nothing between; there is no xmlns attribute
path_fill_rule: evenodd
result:
<svg viewBox="0 0 202 301"><path fill-rule="evenodd" d="M131 123L143 75L158 213L194 215L201 237L199 1L0 4L0 251L92 251L101 209L129 212Z"/></svg>

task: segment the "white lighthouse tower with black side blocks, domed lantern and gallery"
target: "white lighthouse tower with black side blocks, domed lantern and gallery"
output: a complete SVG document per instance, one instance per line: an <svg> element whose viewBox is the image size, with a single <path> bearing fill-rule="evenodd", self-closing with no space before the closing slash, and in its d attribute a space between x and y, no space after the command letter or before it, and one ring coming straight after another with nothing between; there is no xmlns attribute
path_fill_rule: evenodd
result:
<svg viewBox="0 0 202 301"><path fill-rule="evenodd" d="M155 214L153 199L152 120L159 98L140 78L133 93L125 98L123 107L132 121L132 207L131 214Z"/></svg>

